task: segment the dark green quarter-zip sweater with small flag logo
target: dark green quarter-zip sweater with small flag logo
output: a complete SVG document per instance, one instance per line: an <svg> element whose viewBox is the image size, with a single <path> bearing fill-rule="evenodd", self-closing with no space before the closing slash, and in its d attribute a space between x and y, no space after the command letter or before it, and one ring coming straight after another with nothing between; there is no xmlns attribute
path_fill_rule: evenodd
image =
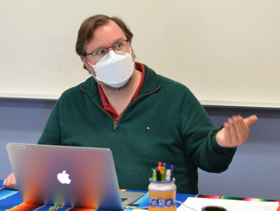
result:
<svg viewBox="0 0 280 211"><path fill-rule="evenodd" d="M177 193L198 194L197 168L225 171L236 151L217 144L218 130L187 87L145 66L140 94L117 122L90 77L63 92L38 144L110 148L121 189L147 190L151 168L173 164Z"/></svg>

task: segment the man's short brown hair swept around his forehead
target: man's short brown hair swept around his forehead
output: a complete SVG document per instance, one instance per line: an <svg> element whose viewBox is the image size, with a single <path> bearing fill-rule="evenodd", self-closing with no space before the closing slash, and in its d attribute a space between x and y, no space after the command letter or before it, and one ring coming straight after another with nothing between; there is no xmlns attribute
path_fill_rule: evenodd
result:
<svg viewBox="0 0 280 211"><path fill-rule="evenodd" d="M123 30L124 35L131 43L133 34L123 20L121 20L119 17L116 16L109 17L106 15L95 15L95 16L88 17L86 20L84 20L79 29L77 42L76 42L76 52L79 56L86 55L86 45L92 39L94 30L96 30L100 26L107 25L110 20L116 22L119 25L119 27ZM83 68L86 69L86 65L84 65Z"/></svg>

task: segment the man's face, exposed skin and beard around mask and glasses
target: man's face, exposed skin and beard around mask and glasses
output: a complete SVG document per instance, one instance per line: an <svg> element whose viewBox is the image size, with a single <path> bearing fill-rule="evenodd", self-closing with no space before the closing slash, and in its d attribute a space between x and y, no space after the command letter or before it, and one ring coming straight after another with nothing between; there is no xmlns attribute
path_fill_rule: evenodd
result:
<svg viewBox="0 0 280 211"><path fill-rule="evenodd" d="M89 42L89 44L86 46L86 53L91 53L95 50L98 50L100 48L108 48L117 42L121 40L126 40L127 37L124 35L124 32L122 29L116 24L114 21L110 21L107 25L105 26L100 26L98 27L94 32L93 32L93 38ZM108 49L108 51L113 50L113 48ZM130 44L128 43L128 50L127 53L130 53ZM132 55L132 58L134 55ZM94 71L94 68L91 65L95 65L97 61L92 57L92 55L87 55L86 60L91 64L89 65L85 58L81 56L82 61L86 65L86 68L90 71L90 73L93 76L96 76L96 73ZM134 58L133 58L134 62ZM96 80L96 78L95 78ZM97 81L97 80L96 80ZM129 83L129 81L124 85L124 87L119 87L119 88L114 88L106 85L103 82L97 81L102 87L109 88L109 89L114 89L114 90L120 90L124 87L126 87Z"/></svg>

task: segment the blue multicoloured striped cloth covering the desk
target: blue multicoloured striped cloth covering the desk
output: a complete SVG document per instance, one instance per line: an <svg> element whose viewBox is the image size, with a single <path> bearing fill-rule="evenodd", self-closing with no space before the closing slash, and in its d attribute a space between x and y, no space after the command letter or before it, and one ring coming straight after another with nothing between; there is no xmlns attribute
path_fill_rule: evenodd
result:
<svg viewBox="0 0 280 211"><path fill-rule="evenodd" d="M130 191L130 190L125 190ZM141 191L142 192L142 191ZM146 191L147 192L147 191ZM199 198L212 198L212 199L235 199L235 200L245 200L245 201L278 201L280 200L268 200L268 199L252 199L252 198L236 198L236 197L226 197L226 196L209 196L209 195L193 195L193 194L176 194L176 200L184 202L188 197L199 197ZM139 207L145 207L149 204L149 194L146 193L142 198L138 199L135 203L140 204ZM177 207L180 204L177 203ZM51 210L69 210L69 211L93 211L95 209L85 209L85 208L71 208L71 207L58 207L52 205L40 205L40 204L28 204L23 203L20 194L16 190L8 190L3 187L3 180L0 180L0 210L9 211L51 211ZM132 209L125 209L126 211ZM280 211L280 206L278 208Z"/></svg>

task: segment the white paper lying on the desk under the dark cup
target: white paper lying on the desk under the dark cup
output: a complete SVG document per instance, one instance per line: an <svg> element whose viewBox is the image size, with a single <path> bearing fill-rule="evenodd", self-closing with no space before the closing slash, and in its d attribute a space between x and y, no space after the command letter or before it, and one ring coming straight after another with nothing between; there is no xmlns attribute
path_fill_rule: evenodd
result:
<svg viewBox="0 0 280 211"><path fill-rule="evenodd" d="M241 201L231 199L204 199L189 197L184 201L184 204L197 211L201 211L204 206L220 206L226 208L227 211L276 211L279 202L264 202L264 201ZM177 211L193 211L181 204Z"/></svg>

